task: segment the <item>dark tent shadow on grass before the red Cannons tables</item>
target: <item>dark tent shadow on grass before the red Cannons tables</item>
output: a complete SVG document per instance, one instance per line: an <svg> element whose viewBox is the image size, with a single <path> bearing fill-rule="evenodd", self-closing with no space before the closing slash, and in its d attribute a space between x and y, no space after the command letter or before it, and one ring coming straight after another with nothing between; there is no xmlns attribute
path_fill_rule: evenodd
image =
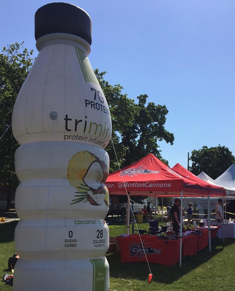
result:
<svg viewBox="0 0 235 291"><path fill-rule="evenodd" d="M182 266L179 264L174 266L163 266L159 264L149 263L152 274L154 274L154 281L159 283L170 284L178 280L183 275L191 272L206 261L211 259L223 250L223 246L233 244L235 240L227 240L224 242L220 239L212 240L212 251L209 253L208 247L199 251L196 256L186 257L182 260ZM110 276L118 278L122 274L124 277L132 279L146 280L149 274L147 263L122 263L120 253L112 253L106 255L110 266ZM147 274L147 275L146 275Z"/></svg>

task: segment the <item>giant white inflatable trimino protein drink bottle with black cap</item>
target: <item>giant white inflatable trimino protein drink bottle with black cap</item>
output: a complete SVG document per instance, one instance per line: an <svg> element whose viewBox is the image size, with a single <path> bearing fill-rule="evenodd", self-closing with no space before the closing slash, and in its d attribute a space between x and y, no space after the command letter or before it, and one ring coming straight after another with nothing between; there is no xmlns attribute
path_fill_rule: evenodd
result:
<svg viewBox="0 0 235 291"><path fill-rule="evenodd" d="M91 19L50 3L35 14L38 57L15 101L14 291L108 291L104 217L111 118L88 61Z"/></svg>

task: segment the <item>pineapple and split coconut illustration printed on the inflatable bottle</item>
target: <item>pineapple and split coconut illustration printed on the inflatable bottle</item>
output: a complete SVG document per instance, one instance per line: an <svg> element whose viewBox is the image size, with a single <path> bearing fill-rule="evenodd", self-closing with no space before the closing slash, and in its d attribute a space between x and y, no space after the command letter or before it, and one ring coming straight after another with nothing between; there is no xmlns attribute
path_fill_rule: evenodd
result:
<svg viewBox="0 0 235 291"><path fill-rule="evenodd" d="M67 178L78 192L71 204L89 201L92 205L108 206L107 177L108 166L97 156L88 151L74 154L68 164Z"/></svg>

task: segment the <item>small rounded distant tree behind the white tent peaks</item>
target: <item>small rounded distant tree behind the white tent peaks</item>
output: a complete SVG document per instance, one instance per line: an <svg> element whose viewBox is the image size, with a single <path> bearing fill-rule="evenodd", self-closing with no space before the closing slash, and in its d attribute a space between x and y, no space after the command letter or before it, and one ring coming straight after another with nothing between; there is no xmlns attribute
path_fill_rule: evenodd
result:
<svg viewBox="0 0 235 291"><path fill-rule="evenodd" d="M191 152L190 160L192 161L191 171L194 175L197 176L203 171L216 179L235 162L235 157L225 146L210 148L203 146Z"/></svg>

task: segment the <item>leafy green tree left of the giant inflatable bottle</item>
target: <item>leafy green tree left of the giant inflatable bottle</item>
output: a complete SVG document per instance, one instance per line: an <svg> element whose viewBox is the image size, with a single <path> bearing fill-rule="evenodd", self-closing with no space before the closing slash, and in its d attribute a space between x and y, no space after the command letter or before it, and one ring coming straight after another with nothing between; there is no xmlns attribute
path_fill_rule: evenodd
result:
<svg viewBox="0 0 235 291"><path fill-rule="evenodd" d="M18 185L15 175L14 155L19 146L11 130L11 118L15 99L33 63L32 50L23 43L4 47L0 53L0 186L9 194ZM8 204L10 203L8 198ZM9 207L9 205L8 205Z"/></svg>

